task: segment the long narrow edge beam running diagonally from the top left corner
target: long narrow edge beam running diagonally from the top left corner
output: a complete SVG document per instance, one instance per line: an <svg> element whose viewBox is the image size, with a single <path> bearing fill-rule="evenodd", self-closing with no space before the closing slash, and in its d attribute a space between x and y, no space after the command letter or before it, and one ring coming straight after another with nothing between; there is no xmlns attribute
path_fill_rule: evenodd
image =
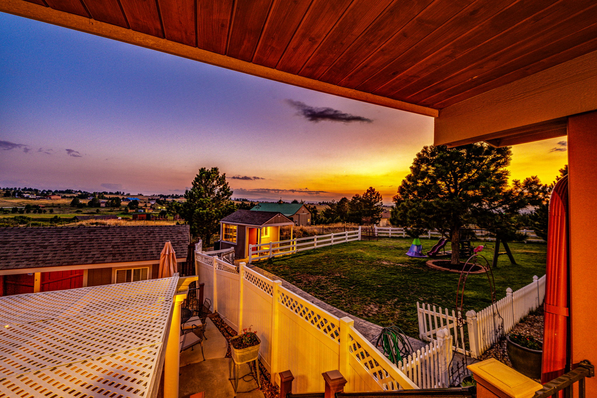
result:
<svg viewBox="0 0 597 398"><path fill-rule="evenodd" d="M303 76L293 75L292 73L282 72L281 70L260 66L247 61L241 61L236 58L227 57L226 55L211 53L210 51L201 50L200 48L190 47L166 39L160 39L155 36L150 36L145 33L136 32L131 29L125 29L124 27L115 26L90 18L64 13L63 11L54 10L50 7L44 7L23 0L0 0L0 11L58 26L68 27L70 29L138 45L140 47L150 48L151 50L161 51L162 53L178 55L179 57L225 67L226 69L248 73L249 75L259 76L260 78L308 88L309 90L325 92L327 94L338 95L339 97L350 98L393 109L405 110L407 112L418 113L419 115L432 116L433 118L438 116L438 110L430 107L392 100L391 98L381 97L380 95L353 90L317 81L315 79L304 78Z"/></svg>

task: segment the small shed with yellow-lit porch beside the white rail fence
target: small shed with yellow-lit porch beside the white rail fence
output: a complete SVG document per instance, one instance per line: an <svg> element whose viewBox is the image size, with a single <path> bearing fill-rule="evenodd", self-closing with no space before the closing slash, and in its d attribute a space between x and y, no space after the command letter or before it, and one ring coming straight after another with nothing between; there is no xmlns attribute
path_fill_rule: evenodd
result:
<svg viewBox="0 0 597 398"><path fill-rule="evenodd" d="M280 240L280 227L294 225L277 211L237 210L220 220L220 249L234 248L235 257L246 258L249 245Z"/></svg>

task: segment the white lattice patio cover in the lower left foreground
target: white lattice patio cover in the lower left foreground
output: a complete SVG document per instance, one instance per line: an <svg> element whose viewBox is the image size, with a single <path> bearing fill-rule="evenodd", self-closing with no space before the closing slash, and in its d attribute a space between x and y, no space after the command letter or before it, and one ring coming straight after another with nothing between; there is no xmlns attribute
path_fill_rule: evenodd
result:
<svg viewBox="0 0 597 398"><path fill-rule="evenodd" d="M147 397L178 280L0 297L0 397Z"/></svg>

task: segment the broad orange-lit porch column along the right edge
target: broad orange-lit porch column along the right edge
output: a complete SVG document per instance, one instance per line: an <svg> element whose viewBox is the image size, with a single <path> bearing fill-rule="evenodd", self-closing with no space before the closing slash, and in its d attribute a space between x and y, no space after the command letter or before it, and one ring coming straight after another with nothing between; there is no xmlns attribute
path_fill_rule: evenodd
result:
<svg viewBox="0 0 597 398"><path fill-rule="evenodd" d="M568 118L570 209L570 318L572 362L597 363L597 111ZM587 397L597 396L597 377L586 380Z"/></svg>

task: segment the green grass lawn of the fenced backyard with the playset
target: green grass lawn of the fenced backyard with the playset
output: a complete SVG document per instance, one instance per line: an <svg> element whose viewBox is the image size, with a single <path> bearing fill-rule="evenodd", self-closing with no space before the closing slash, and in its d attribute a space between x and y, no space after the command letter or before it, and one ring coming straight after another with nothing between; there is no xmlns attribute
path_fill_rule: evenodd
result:
<svg viewBox="0 0 597 398"><path fill-rule="evenodd" d="M433 270L425 265L426 259L407 257L411 242L386 238L341 243L256 265L332 306L381 326L398 325L407 335L418 337L417 301L455 309L460 274ZM436 240L421 242L428 251ZM506 295L506 288L519 289L533 282L533 275L545 273L546 245L510 243L510 249L518 265L501 255L493 270L498 299ZM491 264L493 250L482 254ZM489 304L488 274L470 275L464 310L478 311Z"/></svg>

